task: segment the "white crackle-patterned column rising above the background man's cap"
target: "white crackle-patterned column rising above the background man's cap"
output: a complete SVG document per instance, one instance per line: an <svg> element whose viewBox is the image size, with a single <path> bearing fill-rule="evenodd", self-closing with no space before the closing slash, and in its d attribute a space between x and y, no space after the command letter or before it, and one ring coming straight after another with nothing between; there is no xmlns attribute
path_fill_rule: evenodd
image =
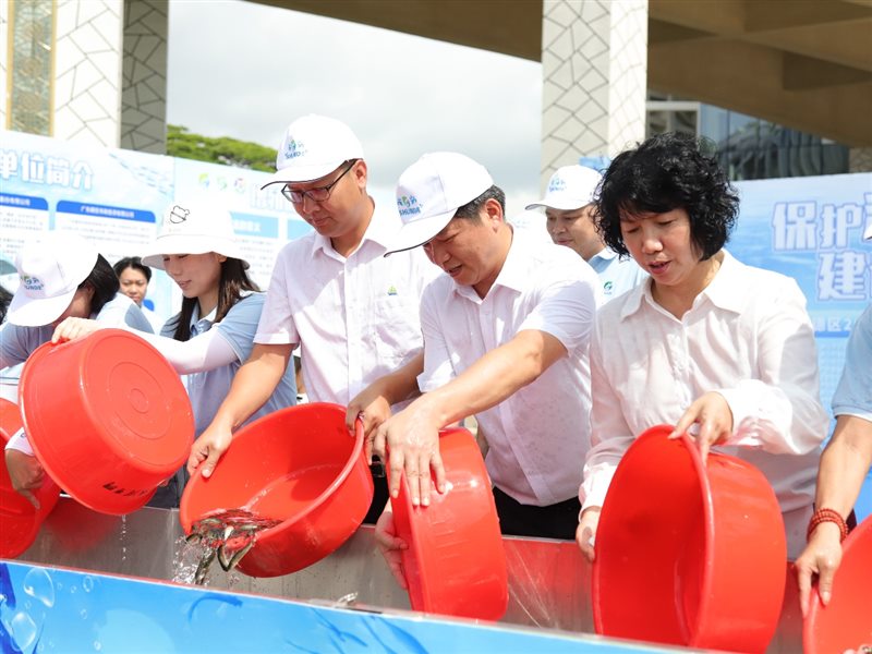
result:
<svg viewBox="0 0 872 654"><path fill-rule="evenodd" d="M647 0L545 0L542 180L645 136Z"/></svg>

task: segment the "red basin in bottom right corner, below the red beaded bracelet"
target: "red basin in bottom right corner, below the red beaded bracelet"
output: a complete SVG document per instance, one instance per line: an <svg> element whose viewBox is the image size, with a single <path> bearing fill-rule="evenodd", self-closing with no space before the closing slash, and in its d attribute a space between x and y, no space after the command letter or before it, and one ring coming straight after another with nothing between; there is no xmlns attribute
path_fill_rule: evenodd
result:
<svg viewBox="0 0 872 654"><path fill-rule="evenodd" d="M816 586L812 589L802 630L806 654L861 652L860 645L872 646L872 517L843 543L829 604L821 604Z"/></svg>

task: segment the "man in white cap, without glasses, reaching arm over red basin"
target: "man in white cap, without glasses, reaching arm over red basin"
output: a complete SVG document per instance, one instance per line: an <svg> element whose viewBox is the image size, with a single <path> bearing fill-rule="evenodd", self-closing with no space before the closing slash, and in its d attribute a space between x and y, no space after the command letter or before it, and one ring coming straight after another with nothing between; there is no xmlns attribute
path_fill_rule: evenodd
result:
<svg viewBox="0 0 872 654"><path fill-rule="evenodd" d="M390 251L423 245L446 275L421 300L424 395L375 433L375 451L389 448L391 494L404 470L413 504L428 505L431 467L443 492L438 429L474 414L502 533L571 540L590 441L596 275L568 249L516 238L505 194L463 155L424 155L400 177L397 203L404 225ZM384 392L374 385L371 403L396 400ZM378 532L389 550L387 516Z"/></svg>

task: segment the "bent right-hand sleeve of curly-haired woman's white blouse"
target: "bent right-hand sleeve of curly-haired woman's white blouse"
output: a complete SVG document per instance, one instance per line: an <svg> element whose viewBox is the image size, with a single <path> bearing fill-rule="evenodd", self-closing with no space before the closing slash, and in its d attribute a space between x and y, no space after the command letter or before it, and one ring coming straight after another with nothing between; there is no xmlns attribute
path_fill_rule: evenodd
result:
<svg viewBox="0 0 872 654"><path fill-rule="evenodd" d="M802 291L792 279L786 282L759 305L765 314L751 335L756 339L759 377L716 389L732 411L732 435L725 445L804 455L820 447L826 435L828 417L813 365L814 329Z"/></svg>

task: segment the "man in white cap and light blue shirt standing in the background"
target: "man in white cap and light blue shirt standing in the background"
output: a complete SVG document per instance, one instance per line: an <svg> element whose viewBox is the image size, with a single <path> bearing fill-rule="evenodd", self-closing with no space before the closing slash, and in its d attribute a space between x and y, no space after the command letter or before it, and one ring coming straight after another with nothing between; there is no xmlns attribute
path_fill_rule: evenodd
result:
<svg viewBox="0 0 872 654"><path fill-rule="evenodd" d="M629 291L646 275L630 257L621 258L607 247L594 223L594 199L603 175L586 166L558 168L548 181L545 197L526 205L545 207L545 227L558 245L574 250L602 281L602 302Z"/></svg>

